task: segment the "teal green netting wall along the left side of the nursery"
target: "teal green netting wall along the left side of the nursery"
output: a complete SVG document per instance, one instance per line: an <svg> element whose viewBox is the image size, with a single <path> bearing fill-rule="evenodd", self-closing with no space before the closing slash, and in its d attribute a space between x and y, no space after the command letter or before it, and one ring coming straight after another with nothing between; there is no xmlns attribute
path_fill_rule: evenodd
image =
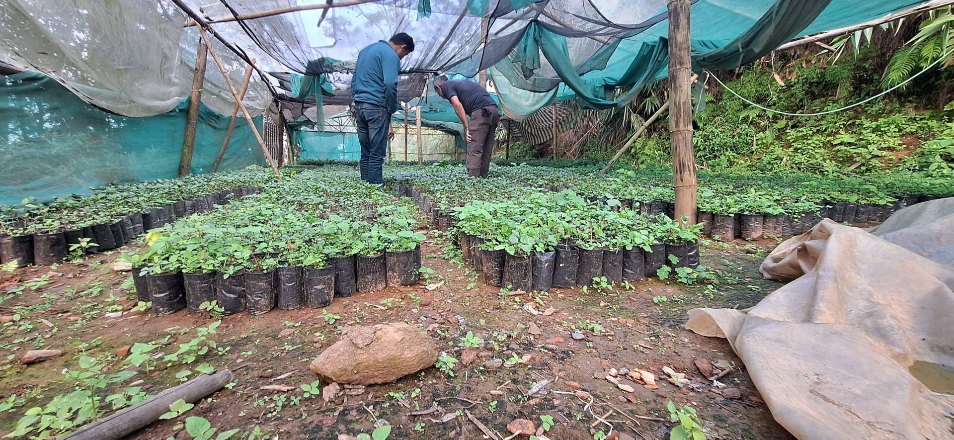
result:
<svg viewBox="0 0 954 440"><path fill-rule="evenodd" d="M91 187L178 175L188 99L171 112L111 115L40 73L0 76L0 203L88 194ZM255 118L261 130L261 116ZM229 117L203 105L192 173L209 172ZM258 140L239 120L220 171L264 164Z"/></svg>

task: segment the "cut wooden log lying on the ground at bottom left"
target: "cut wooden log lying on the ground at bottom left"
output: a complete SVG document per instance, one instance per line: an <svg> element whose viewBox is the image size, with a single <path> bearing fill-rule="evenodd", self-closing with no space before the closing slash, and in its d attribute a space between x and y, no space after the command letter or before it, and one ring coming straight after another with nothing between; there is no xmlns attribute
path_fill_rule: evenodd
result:
<svg viewBox="0 0 954 440"><path fill-rule="evenodd" d="M168 412L169 406L177 400L182 399L188 403L196 403L232 382L232 377L232 371L227 369L214 374L203 374L182 385L166 389L145 402L140 402L130 408L99 419L63 437L63 440L117 440L125 438L136 430L156 422L159 416Z"/></svg>

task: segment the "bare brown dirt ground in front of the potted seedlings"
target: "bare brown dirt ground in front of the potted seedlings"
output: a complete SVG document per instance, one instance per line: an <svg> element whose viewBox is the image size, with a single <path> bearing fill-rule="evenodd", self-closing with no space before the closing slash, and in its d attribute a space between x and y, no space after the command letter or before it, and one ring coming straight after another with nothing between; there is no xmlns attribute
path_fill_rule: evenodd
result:
<svg viewBox="0 0 954 440"><path fill-rule="evenodd" d="M761 280L757 271L778 241L703 243L702 263L723 272L716 284L653 279L629 288L502 295L451 255L459 253L444 245L442 233L428 234L424 264L434 273L421 285L339 298L327 313L275 309L260 317L225 317L209 335L217 347L188 365L159 358L129 367L125 357L116 354L126 354L123 347L135 343L159 345L149 353L153 356L169 354L195 338L197 327L215 322L185 311L153 317L133 310L130 274L112 267L120 252L7 274L0 279L0 292L14 293L0 305L0 319L6 323L0 344L9 354L0 364L0 396L18 397L12 409L0 412L0 430L13 430L27 409L72 391L73 381L64 370L78 368L79 358L90 356L101 361L104 371L139 371L132 379L109 385L103 394L136 380L156 394L180 382L176 373L191 370L188 377L193 377L201 364L235 372L228 388L176 419L137 431L134 438L192 438L182 421L195 415L219 431L240 429L234 438L335 439L370 433L376 423L390 424L392 439L484 438L475 421L504 438L510 435L507 425L512 420L529 419L540 427L540 416L547 415L554 421L545 433L550 439L600 438L611 430L634 438L667 438L675 425L668 421L671 401L696 409L709 438L791 438L773 420L729 344L681 327L690 308L744 308L778 288L778 283ZM430 290L425 284L439 286ZM338 340L342 325L388 322L420 325L449 356L468 365L454 365L453 377L430 367L393 384L343 389L330 402L303 396L301 385L317 379L309 362ZM570 336L574 328L584 339ZM461 337L467 332L479 338L482 347L465 351ZM32 365L20 362L24 352L38 348L63 354ZM507 362L493 367L491 361L497 359ZM702 376L696 360L730 371L714 385ZM677 381L681 387L667 381L664 367L685 374ZM620 375L621 384L634 388L626 392L605 379L611 368L617 374L621 368L651 371L658 388L644 388ZM322 388L327 385L321 383ZM265 386L290 390L260 389ZM591 397L577 397L574 388ZM436 411L410 414L435 403Z"/></svg>

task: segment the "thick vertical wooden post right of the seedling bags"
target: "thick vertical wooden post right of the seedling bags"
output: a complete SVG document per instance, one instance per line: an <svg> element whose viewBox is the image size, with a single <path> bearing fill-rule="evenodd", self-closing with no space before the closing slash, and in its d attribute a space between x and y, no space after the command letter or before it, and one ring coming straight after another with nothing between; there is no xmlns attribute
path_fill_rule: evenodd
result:
<svg viewBox="0 0 954 440"><path fill-rule="evenodd" d="M690 84L690 0L668 0L669 130L673 139L675 220L695 224L695 153Z"/></svg>

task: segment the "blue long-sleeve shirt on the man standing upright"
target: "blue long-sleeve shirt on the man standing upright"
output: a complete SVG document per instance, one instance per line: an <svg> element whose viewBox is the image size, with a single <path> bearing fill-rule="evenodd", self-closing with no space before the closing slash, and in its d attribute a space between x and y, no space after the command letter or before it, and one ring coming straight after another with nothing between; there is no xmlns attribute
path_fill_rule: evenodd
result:
<svg viewBox="0 0 954 440"><path fill-rule="evenodd" d="M355 102L380 105L393 114L398 110L398 70L401 58L391 45L381 40L358 53L351 76L351 94Z"/></svg>

